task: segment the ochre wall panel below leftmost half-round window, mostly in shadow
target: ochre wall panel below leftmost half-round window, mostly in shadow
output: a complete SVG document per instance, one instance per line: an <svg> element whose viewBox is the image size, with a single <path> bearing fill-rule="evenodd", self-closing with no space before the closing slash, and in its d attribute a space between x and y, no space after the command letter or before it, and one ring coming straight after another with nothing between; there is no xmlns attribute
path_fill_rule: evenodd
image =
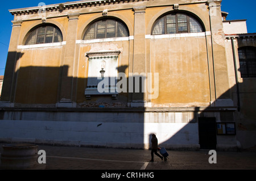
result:
<svg viewBox="0 0 256 181"><path fill-rule="evenodd" d="M62 47L22 50L22 56L19 58L16 103L56 103L62 51Z"/></svg>

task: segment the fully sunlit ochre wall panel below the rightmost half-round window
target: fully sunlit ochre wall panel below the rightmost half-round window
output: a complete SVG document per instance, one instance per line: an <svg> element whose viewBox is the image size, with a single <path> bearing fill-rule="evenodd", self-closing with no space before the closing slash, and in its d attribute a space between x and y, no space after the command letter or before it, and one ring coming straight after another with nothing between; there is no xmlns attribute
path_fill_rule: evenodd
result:
<svg viewBox="0 0 256 181"><path fill-rule="evenodd" d="M205 37L151 40L151 70L159 73L157 104L208 104L209 75Z"/></svg>

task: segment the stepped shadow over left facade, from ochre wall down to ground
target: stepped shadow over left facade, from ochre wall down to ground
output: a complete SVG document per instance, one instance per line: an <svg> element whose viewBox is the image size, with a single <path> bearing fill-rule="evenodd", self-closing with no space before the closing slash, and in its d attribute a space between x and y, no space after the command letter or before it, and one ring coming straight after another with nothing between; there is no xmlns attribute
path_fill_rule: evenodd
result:
<svg viewBox="0 0 256 181"><path fill-rule="evenodd" d="M27 66L15 72L16 91L13 95L5 91L4 95L7 102L10 96L14 97L11 103L15 107L0 110L0 140L143 148L144 108L127 110L127 93L119 94L117 99L110 94L91 95L86 100L85 90L92 88L87 86L88 79L68 77L68 69ZM126 69L121 66L118 71ZM56 107L65 96L77 102L77 107Z"/></svg>

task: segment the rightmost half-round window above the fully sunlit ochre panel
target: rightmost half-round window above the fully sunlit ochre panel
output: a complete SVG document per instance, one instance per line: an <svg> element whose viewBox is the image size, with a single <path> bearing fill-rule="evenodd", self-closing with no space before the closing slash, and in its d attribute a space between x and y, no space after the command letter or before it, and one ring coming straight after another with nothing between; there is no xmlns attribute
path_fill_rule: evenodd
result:
<svg viewBox="0 0 256 181"><path fill-rule="evenodd" d="M195 17L189 14L175 12L158 19L152 29L152 35L203 31L203 26Z"/></svg>

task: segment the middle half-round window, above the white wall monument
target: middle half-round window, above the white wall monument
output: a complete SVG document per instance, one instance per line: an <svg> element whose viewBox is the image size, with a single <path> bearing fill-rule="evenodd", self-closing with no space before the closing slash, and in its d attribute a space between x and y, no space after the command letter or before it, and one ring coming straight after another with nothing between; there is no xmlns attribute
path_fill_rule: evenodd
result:
<svg viewBox="0 0 256 181"><path fill-rule="evenodd" d="M129 36L129 31L125 24L115 19L102 19L90 25L84 40L126 36Z"/></svg>

